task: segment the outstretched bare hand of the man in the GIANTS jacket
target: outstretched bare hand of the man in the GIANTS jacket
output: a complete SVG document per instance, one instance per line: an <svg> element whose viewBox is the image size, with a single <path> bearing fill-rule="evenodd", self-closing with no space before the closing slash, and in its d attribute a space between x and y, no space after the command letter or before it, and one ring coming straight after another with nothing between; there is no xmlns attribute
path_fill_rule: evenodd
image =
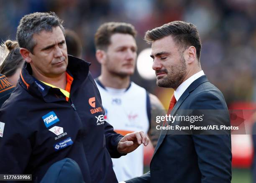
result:
<svg viewBox="0 0 256 183"><path fill-rule="evenodd" d="M145 133L140 132L133 132L128 133L118 143L118 152L121 154L127 154L129 152L133 152L143 143L145 146L148 145L149 139L146 137Z"/></svg>

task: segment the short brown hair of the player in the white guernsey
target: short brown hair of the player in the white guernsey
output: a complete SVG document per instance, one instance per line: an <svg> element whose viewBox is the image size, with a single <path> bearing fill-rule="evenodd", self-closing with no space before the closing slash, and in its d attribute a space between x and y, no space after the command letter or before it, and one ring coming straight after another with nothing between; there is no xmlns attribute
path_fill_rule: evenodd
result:
<svg viewBox="0 0 256 183"><path fill-rule="evenodd" d="M110 37L115 33L130 34L135 38L136 30L130 23L108 22L103 23L96 31L94 40L96 49L106 49L110 45Z"/></svg>

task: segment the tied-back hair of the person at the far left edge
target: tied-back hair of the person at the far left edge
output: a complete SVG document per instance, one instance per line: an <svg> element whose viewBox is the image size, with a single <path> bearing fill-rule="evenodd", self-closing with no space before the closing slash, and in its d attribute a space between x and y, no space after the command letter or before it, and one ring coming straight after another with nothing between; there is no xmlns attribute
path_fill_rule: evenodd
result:
<svg viewBox="0 0 256 183"><path fill-rule="evenodd" d="M21 68L24 63L24 60L20 55L20 47L17 41L10 40L5 41L3 46L6 46L9 53L0 66L0 74L5 75L6 77L13 76L17 69Z"/></svg>

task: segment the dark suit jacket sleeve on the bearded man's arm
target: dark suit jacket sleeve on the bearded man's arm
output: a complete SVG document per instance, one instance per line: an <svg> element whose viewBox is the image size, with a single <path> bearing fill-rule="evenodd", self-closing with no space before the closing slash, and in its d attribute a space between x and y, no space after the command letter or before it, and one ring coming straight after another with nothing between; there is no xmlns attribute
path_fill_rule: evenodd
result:
<svg viewBox="0 0 256 183"><path fill-rule="evenodd" d="M207 102L205 102L207 101ZM230 126L228 109L224 99L215 94L202 93L192 102L195 109L210 109L204 116L204 123ZM216 110L215 110L216 109ZM220 109L223 111L220 114ZM198 166L202 174L202 183L231 182L231 137L230 132L222 135L192 135L195 151L198 156Z"/></svg>

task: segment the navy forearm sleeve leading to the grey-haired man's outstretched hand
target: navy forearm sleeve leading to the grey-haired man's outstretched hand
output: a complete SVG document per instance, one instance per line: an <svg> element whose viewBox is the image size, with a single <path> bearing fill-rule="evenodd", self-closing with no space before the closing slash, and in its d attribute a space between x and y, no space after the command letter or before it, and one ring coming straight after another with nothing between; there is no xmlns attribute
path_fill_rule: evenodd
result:
<svg viewBox="0 0 256 183"><path fill-rule="evenodd" d="M122 155L117 150L118 142L123 138L123 135L116 133L113 127L105 121L104 134L106 139L106 147L111 158L120 158Z"/></svg>

